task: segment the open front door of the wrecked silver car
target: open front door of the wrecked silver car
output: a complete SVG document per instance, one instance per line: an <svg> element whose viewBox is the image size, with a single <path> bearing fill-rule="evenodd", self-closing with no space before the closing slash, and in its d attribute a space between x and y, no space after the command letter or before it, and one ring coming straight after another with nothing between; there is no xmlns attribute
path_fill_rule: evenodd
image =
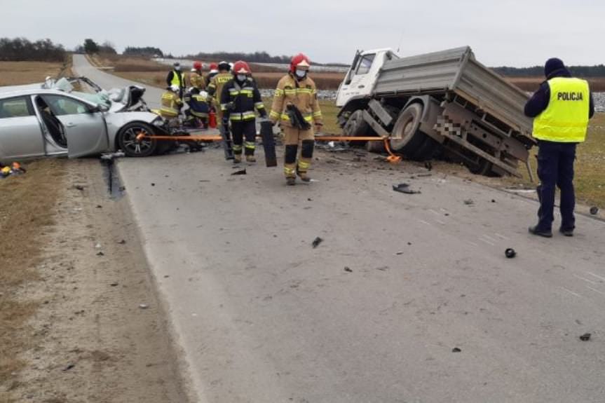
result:
<svg viewBox="0 0 605 403"><path fill-rule="evenodd" d="M64 127L69 158L95 155L109 149L102 111L67 95L41 96Z"/></svg>

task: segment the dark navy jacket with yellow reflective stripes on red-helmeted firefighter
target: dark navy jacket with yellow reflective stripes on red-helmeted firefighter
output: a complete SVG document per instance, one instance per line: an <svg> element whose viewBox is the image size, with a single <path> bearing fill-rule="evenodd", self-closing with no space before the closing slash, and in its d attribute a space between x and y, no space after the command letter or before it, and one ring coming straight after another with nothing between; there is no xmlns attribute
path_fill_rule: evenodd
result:
<svg viewBox="0 0 605 403"><path fill-rule="evenodd" d="M251 78L243 83L232 79L223 87L221 94L221 110L224 116L229 116L232 122L252 121L256 117L254 109L261 116L266 116L265 106L257 84Z"/></svg>

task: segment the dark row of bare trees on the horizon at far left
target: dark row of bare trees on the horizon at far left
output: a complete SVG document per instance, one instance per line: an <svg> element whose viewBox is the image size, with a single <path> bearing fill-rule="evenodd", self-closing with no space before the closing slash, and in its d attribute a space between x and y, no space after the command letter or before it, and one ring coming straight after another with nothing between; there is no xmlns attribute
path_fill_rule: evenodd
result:
<svg viewBox="0 0 605 403"><path fill-rule="evenodd" d="M50 39L32 42L25 38L0 38L0 60L3 62L62 62L65 55L63 46Z"/></svg>

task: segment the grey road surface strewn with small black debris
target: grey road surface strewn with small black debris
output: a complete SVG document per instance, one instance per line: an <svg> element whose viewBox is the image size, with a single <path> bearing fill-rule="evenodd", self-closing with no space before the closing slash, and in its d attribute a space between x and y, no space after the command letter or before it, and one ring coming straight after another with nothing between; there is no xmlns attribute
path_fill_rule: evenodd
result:
<svg viewBox="0 0 605 403"><path fill-rule="evenodd" d="M198 402L605 402L603 222L537 238L531 200L317 156L294 187L217 149L119 161Z"/></svg>

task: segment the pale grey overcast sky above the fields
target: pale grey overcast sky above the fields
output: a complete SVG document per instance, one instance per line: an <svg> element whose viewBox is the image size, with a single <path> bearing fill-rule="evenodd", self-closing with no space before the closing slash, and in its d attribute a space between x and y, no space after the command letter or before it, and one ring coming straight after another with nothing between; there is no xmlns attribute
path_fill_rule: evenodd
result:
<svg viewBox="0 0 605 403"><path fill-rule="evenodd" d="M350 62L355 49L400 55L470 45L489 66L525 67L560 57L605 63L605 1L562 0L1 0L0 37L85 38L157 46L174 55L218 50L304 52Z"/></svg>

